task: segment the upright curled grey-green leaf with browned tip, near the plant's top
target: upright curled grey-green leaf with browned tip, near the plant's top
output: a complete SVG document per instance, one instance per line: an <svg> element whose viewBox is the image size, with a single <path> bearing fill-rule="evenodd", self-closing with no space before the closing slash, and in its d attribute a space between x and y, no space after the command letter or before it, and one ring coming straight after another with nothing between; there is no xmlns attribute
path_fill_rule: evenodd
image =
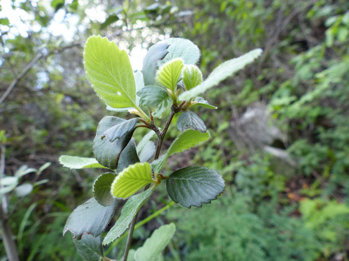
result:
<svg viewBox="0 0 349 261"><path fill-rule="evenodd" d="M169 44L155 44L148 49L143 58L143 79L145 85L154 85L156 66L168 54Z"/></svg>

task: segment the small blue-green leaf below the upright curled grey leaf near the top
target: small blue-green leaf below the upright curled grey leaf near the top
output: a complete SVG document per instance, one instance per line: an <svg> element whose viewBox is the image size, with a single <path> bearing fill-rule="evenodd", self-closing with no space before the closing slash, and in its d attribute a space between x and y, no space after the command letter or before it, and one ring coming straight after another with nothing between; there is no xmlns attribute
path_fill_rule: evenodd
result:
<svg viewBox="0 0 349 261"><path fill-rule="evenodd" d="M146 86L137 92L140 96L140 103L145 106L157 106L162 103L169 94L159 86Z"/></svg>

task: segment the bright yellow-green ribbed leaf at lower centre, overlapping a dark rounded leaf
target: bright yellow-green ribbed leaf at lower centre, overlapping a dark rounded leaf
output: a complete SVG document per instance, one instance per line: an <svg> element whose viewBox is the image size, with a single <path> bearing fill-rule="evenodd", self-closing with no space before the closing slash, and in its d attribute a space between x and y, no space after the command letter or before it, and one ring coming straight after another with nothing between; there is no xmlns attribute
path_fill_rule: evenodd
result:
<svg viewBox="0 0 349 261"><path fill-rule="evenodd" d="M111 184L111 193L117 198L128 198L148 183L156 183L151 178L150 164L136 163L120 172Z"/></svg>

